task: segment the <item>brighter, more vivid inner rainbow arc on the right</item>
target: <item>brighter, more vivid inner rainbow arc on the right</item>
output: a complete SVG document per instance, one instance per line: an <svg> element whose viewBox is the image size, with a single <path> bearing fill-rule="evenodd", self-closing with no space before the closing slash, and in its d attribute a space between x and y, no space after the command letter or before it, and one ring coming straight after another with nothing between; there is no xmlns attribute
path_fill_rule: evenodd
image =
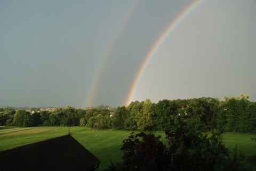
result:
<svg viewBox="0 0 256 171"><path fill-rule="evenodd" d="M171 24L165 29L165 31L162 33L162 35L157 39L153 47L149 50L149 53L147 54L145 60L143 61L139 72L137 76L135 77L135 80L133 81L132 88L129 93L129 97L126 100L126 106L128 106L132 99L133 95L137 89L137 86L139 84L139 81L141 79L141 76L143 72L145 71L147 65L149 64L151 58L156 53L157 49L162 45L163 41L170 35L170 33L174 30L175 27L184 19L191 11L194 10L195 7L197 7L200 3L202 3L203 0L196 0L195 2L191 3L185 10L183 10L177 18L175 18L174 21L171 22Z"/></svg>

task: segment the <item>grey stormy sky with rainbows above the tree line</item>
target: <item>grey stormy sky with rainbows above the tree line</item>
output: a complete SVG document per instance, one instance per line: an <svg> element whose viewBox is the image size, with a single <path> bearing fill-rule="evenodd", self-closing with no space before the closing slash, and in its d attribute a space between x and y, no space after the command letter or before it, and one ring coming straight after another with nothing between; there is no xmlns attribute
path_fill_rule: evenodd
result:
<svg viewBox="0 0 256 171"><path fill-rule="evenodd" d="M256 101L255 9L253 0L1 0L0 106Z"/></svg>

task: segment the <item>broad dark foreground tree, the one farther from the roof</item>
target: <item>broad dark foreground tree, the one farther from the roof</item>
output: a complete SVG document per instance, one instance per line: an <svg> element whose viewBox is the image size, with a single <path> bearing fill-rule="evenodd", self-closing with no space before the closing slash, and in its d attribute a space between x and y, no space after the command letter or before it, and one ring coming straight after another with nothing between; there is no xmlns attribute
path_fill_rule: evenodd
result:
<svg viewBox="0 0 256 171"><path fill-rule="evenodd" d="M169 140L169 170L244 170L241 163L244 156L230 158L229 150L222 143L219 133L210 138L190 128L181 127L176 131L165 131Z"/></svg>

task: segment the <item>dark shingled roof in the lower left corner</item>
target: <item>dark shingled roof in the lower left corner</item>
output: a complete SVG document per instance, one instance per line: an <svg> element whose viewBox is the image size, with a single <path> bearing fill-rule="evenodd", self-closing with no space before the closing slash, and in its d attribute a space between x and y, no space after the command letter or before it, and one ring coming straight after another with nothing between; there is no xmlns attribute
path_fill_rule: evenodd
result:
<svg viewBox="0 0 256 171"><path fill-rule="evenodd" d="M94 170L99 164L71 135L0 151L0 170Z"/></svg>

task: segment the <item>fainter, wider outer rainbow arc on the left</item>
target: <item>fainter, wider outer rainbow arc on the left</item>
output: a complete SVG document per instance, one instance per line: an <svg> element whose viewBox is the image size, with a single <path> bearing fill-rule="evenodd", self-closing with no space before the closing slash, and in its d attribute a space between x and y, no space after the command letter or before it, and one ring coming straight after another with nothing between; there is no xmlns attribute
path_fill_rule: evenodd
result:
<svg viewBox="0 0 256 171"><path fill-rule="evenodd" d="M117 44L117 41L118 41L122 31L124 30L128 21L131 19L132 14L134 13L135 9L139 6L139 4L140 4L140 1L135 1L134 4L132 4L131 7L128 8L126 14L124 15L124 19L122 20L123 22L121 24L119 24L119 27L117 28L117 30L114 31L113 39L111 39L109 41L108 46L103 51L104 53L100 59L98 68L96 69L97 72L96 72L95 76L93 77L94 79L92 80L91 86L89 88L89 96L87 96L87 99L85 102L86 107L93 106L94 97L95 97L96 90L98 88L98 85L99 85L99 82L101 79L101 75L102 75L102 72L104 69L104 64L108 61L110 55L113 52L115 45Z"/></svg>

